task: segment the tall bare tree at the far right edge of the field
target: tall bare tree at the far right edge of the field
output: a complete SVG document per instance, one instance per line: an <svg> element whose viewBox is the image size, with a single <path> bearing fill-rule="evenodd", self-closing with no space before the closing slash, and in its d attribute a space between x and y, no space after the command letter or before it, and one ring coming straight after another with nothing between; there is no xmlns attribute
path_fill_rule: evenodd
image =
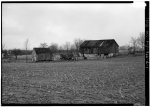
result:
<svg viewBox="0 0 150 107"><path fill-rule="evenodd" d="M137 44L142 48L142 50L144 51L144 47L145 47L145 33L141 32L140 36L137 38Z"/></svg>

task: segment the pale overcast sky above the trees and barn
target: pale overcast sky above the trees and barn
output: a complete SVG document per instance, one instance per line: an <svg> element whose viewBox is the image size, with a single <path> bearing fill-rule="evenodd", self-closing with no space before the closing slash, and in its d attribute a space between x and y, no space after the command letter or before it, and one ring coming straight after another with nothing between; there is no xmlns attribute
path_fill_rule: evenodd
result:
<svg viewBox="0 0 150 107"><path fill-rule="evenodd" d="M40 43L115 39L129 43L145 29L144 8L132 4L4 4L2 5L2 41L7 49L24 49Z"/></svg>

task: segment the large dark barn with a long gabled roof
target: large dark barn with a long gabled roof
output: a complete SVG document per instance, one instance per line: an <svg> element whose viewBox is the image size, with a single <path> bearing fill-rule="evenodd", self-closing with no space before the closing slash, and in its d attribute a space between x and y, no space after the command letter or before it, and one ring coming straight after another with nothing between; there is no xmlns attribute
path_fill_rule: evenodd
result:
<svg viewBox="0 0 150 107"><path fill-rule="evenodd" d="M83 54L97 55L116 55L119 51L119 45L114 39L105 40L86 40L80 45L80 51Z"/></svg>

